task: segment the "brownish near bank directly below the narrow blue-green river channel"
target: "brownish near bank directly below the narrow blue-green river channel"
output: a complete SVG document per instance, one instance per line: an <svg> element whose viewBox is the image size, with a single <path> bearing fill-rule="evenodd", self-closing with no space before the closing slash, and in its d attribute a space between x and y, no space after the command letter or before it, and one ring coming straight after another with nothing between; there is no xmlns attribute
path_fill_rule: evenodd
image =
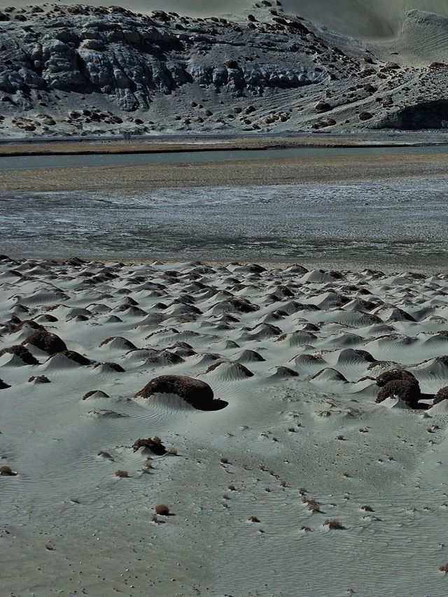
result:
<svg viewBox="0 0 448 597"><path fill-rule="evenodd" d="M86 164L81 162L81 158L73 156L8 157L0 160L13 160L9 168L0 170L0 190L130 190L290 185L409 176L428 179L447 173L448 150L444 147L302 148L258 153L103 155L84 156ZM20 160L28 163L22 167ZM50 163L45 164L44 160ZM69 163L64 164L64 160ZM100 163L95 163L95 160Z"/></svg>

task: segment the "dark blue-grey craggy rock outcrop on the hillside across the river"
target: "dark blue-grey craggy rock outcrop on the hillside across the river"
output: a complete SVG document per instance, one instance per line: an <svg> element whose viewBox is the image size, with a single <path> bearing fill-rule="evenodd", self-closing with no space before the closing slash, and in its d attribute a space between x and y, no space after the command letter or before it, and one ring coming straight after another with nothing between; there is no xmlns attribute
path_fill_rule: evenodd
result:
<svg viewBox="0 0 448 597"><path fill-rule="evenodd" d="M27 9L28 10L28 9ZM197 83L237 95L262 94L266 88L296 88L325 76L314 66L290 59L276 64L216 65L213 46L235 52L241 29L223 20L197 22L155 13L155 18L123 9L55 7L49 15L29 9L0 20L0 91L29 90L108 94L125 111L148 108L153 96ZM22 20L25 19L25 20ZM26 24L24 25L24 22ZM303 35L295 29L295 36ZM248 30L258 43L258 31ZM279 44L269 36L267 48ZM239 39L239 43L238 43ZM281 50L286 40L280 40Z"/></svg>

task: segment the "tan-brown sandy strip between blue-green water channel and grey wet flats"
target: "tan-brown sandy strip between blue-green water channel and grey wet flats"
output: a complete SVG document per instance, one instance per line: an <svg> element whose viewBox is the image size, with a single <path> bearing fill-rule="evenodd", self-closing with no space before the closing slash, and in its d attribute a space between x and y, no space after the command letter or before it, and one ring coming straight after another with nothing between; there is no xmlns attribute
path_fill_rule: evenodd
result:
<svg viewBox="0 0 448 597"><path fill-rule="evenodd" d="M434 176L447 171L447 153L416 155L360 153L297 158L223 160L144 166L69 167L0 170L3 190L95 190L170 187L281 185L316 181L354 181L399 176Z"/></svg>

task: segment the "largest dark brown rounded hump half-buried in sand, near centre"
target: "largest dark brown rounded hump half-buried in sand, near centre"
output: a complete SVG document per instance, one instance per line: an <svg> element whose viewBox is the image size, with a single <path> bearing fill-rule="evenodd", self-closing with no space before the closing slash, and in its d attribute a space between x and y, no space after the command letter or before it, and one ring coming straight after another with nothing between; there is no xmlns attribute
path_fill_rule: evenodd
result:
<svg viewBox="0 0 448 597"><path fill-rule="evenodd" d="M155 394L175 394L197 410L221 410L228 405L225 400L215 400L209 384L200 379L183 375L161 375L146 384L137 394L152 398Z"/></svg>

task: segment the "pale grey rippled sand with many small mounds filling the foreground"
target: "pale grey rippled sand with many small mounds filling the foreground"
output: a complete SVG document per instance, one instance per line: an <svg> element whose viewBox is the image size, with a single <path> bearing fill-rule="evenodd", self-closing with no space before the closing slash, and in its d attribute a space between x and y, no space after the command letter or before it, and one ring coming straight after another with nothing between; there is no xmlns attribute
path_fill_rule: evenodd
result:
<svg viewBox="0 0 448 597"><path fill-rule="evenodd" d="M424 408L448 384L447 290L447 274L3 258L0 349L29 352L0 356L18 473L0 476L2 594L444 596L448 409ZM72 352L27 342L37 326ZM422 409L375 404L397 364ZM160 374L228 406L135 398ZM176 454L132 450L155 435ZM152 521L160 503L172 516Z"/></svg>

